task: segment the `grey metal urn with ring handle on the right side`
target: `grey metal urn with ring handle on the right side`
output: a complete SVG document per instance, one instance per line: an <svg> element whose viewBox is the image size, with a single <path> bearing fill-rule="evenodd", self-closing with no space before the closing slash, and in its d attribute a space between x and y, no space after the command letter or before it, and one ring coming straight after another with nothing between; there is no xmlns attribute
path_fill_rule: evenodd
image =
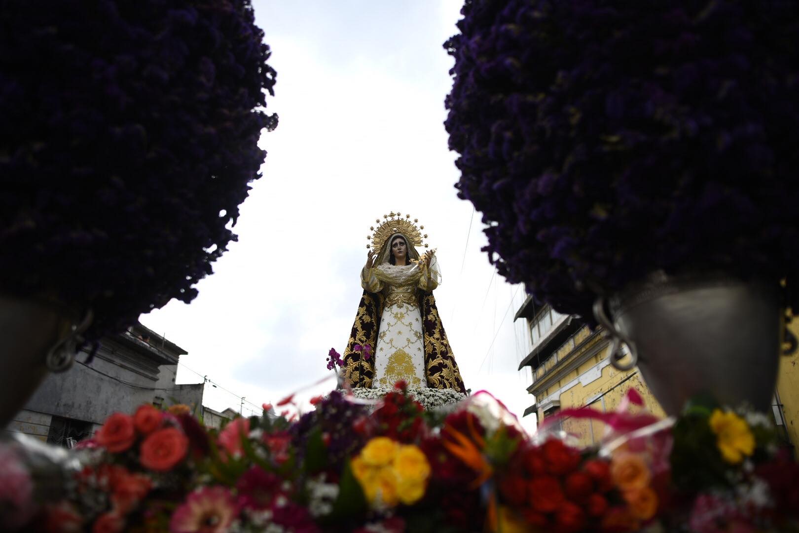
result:
<svg viewBox="0 0 799 533"><path fill-rule="evenodd" d="M785 332L777 289L723 274L658 272L597 300L594 315L610 332L611 363L621 370L637 364L668 414L702 393L721 404L765 411ZM622 353L622 343L629 354Z"/></svg>

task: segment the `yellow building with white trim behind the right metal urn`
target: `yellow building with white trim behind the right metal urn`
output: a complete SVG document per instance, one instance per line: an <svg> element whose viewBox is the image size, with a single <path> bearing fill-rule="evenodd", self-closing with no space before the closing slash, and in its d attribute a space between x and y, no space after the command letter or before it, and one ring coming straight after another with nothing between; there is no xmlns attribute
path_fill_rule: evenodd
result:
<svg viewBox="0 0 799 533"><path fill-rule="evenodd" d="M614 411L630 387L636 388L646 409L665 416L646 387L638 368L621 372L608 359L610 340L602 328L592 331L578 316L562 315L549 305L536 305L531 296L516 313L530 331L531 350L519 364L530 367L532 384L527 392L535 404L524 416L535 414L538 424L561 409L590 405L602 412ZM799 337L799 320L791 329ZM626 347L625 347L626 349ZM788 447L799 442L799 354L781 360L772 414ZM602 438L603 424L587 420L564 419L560 427L578 437L580 444L593 444Z"/></svg>

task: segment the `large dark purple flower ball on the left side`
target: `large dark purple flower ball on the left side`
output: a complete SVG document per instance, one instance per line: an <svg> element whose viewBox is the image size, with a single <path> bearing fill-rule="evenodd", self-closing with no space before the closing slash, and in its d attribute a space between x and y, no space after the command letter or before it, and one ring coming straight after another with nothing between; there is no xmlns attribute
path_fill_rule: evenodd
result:
<svg viewBox="0 0 799 533"><path fill-rule="evenodd" d="M277 117L249 0L3 2L0 291L90 339L197 296Z"/></svg>

